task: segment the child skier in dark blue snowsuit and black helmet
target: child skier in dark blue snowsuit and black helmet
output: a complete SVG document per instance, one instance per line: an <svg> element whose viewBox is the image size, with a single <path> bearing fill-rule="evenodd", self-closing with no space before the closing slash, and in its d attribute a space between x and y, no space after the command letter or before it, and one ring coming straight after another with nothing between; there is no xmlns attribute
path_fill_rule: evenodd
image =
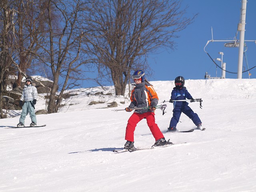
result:
<svg viewBox="0 0 256 192"><path fill-rule="evenodd" d="M170 122L170 126L167 131L175 132L178 131L176 126L180 120L181 113L184 113L188 116L193 123L197 126L198 129L202 130L202 122L198 115L193 112L193 110L188 106L186 101L175 101L175 100L186 100L190 99L191 102L194 102L193 97L190 95L186 87L184 87L185 79L182 76L175 78L175 87L172 90L171 99L169 102L173 103L173 116Z"/></svg>

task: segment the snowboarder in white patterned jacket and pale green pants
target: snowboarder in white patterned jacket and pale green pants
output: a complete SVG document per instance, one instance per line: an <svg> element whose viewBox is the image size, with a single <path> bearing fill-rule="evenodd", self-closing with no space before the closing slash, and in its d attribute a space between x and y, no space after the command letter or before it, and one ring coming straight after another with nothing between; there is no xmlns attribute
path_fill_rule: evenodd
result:
<svg viewBox="0 0 256 192"><path fill-rule="evenodd" d="M37 99L37 89L35 86L32 86L32 78L26 78L26 84L24 86L22 96L20 98L20 106L22 106L22 112L20 115L20 122L17 127L25 126L25 118L29 113L31 118L30 126L36 125L36 114L35 114L35 104ZM24 101L24 103L23 103Z"/></svg>

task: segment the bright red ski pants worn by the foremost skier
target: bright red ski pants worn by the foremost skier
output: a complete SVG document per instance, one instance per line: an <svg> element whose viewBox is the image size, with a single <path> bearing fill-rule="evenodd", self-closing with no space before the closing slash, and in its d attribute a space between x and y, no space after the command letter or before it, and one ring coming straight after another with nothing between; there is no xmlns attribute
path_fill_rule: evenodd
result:
<svg viewBox="0 0 256 192"><path fill-rule="evenodd" d="M134 141L134 131L135 127L142 119L146 118L148 127L152 132L155 140L164 138L164 135L160 131L159 127L155 122L155 114L153 112L146 112L142 114L133 113L132 116L128 119L128 124L126 126L125 140Z"/></svg>

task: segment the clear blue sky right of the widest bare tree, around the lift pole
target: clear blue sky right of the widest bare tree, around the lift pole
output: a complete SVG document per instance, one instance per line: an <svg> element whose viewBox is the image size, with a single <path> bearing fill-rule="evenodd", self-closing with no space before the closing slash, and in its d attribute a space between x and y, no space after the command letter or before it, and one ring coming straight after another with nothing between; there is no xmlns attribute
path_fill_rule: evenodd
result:
<svg viewBox="0 0 256 192"><path fill-rule="evenodd" d="M183 0L182 5L188 5L187 16L198 13L194 23L188 26L175 40L176 50L167 52L163 50L159 54L150 56L149 63L154 70L154 75L148 77L152 80L174 80L176 76L184 76L185 79L204 79L205 72L216 77L216 65L204 52L204 46L211 40L211 27L214 40L234 39L238 22L240 21L240 0ZM247 0L245 40L256 40L256 1ZM240 33L237 35L239 40ZM256 65L256 44L246 42L248 50L248 66ZM223 52L223 62L226 62L226 70L237 72L238 48L226 48L223 42L210 42L206 51L214 58L221 58L218 52ZM216 61L221 65L221 62ZM243 66L246 67L245 61ZM247 67L246 67L247 70ZM250 78L256 78L256 68L250 70ZM221 76L220 68L217 76ZM237 78L237 74L226 73L226 78ZM242 78L249 78L248 72L242 74Z"/></svg>

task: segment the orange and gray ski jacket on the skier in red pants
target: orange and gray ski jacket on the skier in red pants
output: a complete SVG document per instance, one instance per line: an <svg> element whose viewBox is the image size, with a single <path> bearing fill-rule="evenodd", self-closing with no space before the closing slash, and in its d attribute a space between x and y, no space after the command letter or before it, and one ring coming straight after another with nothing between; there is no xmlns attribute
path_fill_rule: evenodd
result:
<svg viewBox="0 0 256 192"><path fill-rule="evenodd" d="M131 104L130 108L140 108L148 106L157 106L158 96L153 86L147 82L136 84L131 93ZM136 113L150 112L150 109L135 110Z"/></svg>

